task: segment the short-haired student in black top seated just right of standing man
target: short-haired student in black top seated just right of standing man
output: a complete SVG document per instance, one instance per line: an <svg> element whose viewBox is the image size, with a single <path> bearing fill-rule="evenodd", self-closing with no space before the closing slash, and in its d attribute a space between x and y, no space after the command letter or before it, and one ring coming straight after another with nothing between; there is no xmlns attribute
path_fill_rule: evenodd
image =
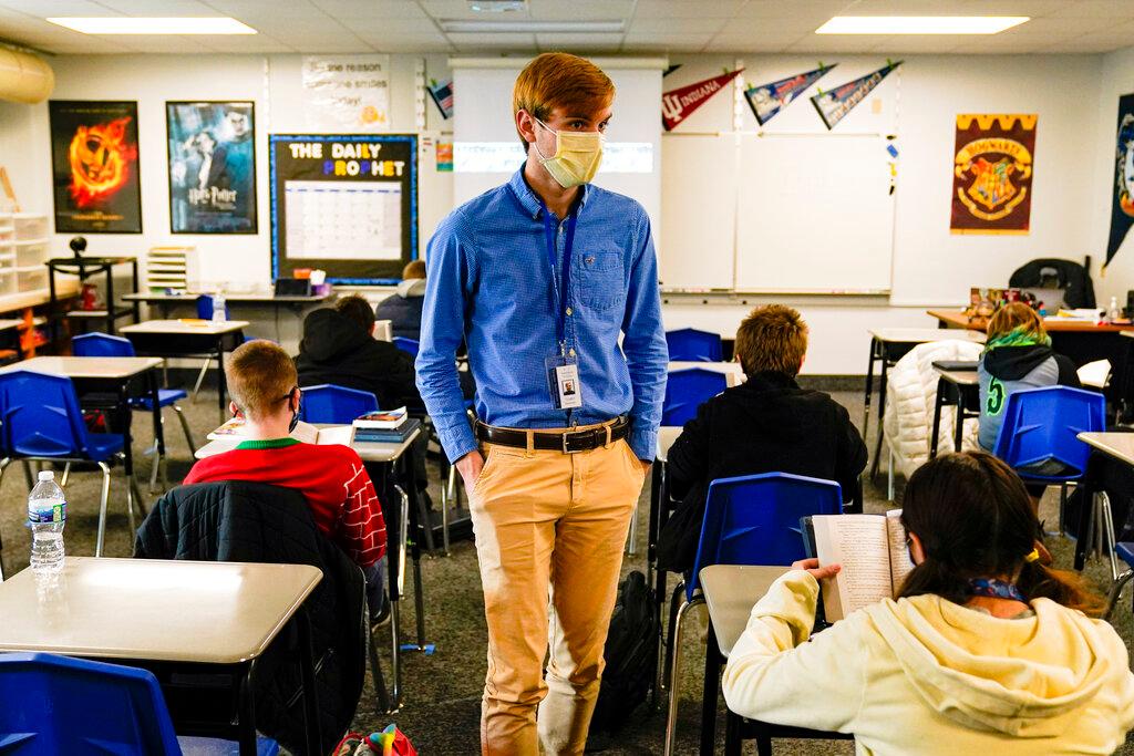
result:
<svg viewBox="0 0 1134 756"><path fill-rule="evenodd" d="M835 481L850 501L866 466L866 444L846 408L795 376L807 351L807 325L782 305L756 307L736 332L747 381L697 409L669 450L670 492L682 503L658 543L663 569L693 568L709 484L758 473Z"/></svg>

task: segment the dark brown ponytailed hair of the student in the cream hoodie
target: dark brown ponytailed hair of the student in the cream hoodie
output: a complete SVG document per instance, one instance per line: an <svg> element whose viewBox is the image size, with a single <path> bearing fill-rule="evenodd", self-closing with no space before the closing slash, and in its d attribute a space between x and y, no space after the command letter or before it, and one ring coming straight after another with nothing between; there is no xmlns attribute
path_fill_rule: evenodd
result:
<svg viewBox="0 0 1134 756"><path fill-rule="evenodd" d="M1023 481L992 455L943 455L917 468L906 483L902 524L921 540L925 560L906 576L899 597L936 594L965 604L971 579L1007 577L1029 601L1102 613L1102 597L1082 577L1026 559L1040 521Z"/></svg>

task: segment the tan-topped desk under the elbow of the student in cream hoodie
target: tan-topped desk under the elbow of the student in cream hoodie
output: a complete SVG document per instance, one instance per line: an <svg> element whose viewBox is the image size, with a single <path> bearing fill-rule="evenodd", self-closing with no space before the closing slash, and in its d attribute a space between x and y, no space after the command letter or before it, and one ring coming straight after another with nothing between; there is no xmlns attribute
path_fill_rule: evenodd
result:
<svg viewBox="0 0 1134 756"><path fill-rule="evenodd" d="M728 659L733 646L744 634L752 606L768 593L771 584L787 571L787 567L738 567L734 564L713 564L701 570L701 591L704 593L705 604L709 608L704 696L701 704L702 756L711 756L714 753L717 694L720 686L721 661ZM713 645L717 646L716 649L713 649ZM816 705L822 704L816 702ZM726 756L739 756L741 740L744 737L756 739L756 749L761 756L771 754L772 737L824 740L850 740L854 738L854 736L839 732L750 722L738 714L728 712L725 723Z"/></svg>

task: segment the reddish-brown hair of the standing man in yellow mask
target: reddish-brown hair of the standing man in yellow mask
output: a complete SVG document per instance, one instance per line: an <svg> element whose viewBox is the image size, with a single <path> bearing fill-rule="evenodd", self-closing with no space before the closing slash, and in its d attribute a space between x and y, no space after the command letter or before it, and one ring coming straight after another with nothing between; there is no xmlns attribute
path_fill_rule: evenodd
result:
<svg viewBox="0 0 1134 756"><path fill-rule="evenodd" d="M590 60L567 52L544 52L533 58L516 78L511 112L515 116L526 110L547 121L556 108L573 110L573 114L592 113L606 108L613 97L615 83ZM519 134L519 141L527 152L524 135Z"/></svg>

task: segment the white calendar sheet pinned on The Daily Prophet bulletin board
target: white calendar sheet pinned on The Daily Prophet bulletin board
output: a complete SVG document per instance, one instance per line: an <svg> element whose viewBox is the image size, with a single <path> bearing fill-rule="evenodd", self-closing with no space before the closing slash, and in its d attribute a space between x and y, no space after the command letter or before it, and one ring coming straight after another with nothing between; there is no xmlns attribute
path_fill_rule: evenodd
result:
<svg viewBox="0 0 1134 756"><path fill-rule="evenodd" d="M401 186L285 181L287 256L401 260Z"/></svg>

